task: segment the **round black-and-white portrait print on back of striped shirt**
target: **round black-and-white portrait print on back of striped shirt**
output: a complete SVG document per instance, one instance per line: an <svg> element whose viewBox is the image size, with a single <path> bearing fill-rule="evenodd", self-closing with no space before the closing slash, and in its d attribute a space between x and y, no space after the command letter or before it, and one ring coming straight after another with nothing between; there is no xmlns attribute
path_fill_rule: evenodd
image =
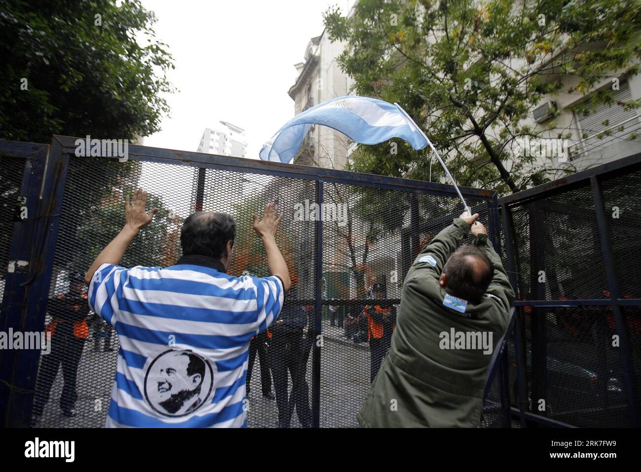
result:
<svg viewBox="0 0 641 472"><path fill-rule="evenodd" d="M203 406L213 390L212 365L189 349L158 354L145 374L145 399L154 411L178 417Z"/></svg>

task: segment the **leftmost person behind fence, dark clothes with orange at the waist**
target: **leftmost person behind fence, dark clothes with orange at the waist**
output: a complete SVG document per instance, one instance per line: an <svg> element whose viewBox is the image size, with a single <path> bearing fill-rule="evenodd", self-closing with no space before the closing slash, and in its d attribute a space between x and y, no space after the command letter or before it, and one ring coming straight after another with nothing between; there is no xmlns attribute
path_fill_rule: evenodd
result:
<svg viewBox="0 0 641 472"><path fill-rule="evenodd" d="M69 275L69 290L54 299L49 299L47 311L51 322L45 330L51 333L51 352L42 356L38 381L33 400L32 423L37 425L44 407L49 401L51 387L62 365L63 387L60 395L60 410L67 417L76 415L76 379L78 363L85 340L89 334L87 325L87 295L81 274Z"/></svg>

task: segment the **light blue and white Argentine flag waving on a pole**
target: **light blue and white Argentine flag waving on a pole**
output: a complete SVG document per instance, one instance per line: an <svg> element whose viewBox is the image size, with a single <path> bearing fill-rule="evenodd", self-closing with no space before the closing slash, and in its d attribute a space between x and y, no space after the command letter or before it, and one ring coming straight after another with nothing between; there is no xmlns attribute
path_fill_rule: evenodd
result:
<svg viewBox="0 0 641 472"><path fill-rule="evenodd" d="M400 137L416 150L428 145L422 131L396 105L376 98L344 96L319 103L290 119L265 143L260 159L286 164L292 161L312 125L334 128L361 144Z"/></svg>

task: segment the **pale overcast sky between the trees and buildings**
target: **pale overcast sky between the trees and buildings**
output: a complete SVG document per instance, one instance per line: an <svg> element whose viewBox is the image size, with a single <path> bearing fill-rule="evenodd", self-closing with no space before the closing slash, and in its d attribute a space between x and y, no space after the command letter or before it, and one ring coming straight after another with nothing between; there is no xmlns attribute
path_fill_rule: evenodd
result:
<svg viewBox="0 0 641 472"><path fill-rule="evenodd" d="M228 121L246 130L247 156L258 152L288 119L288 89L305 48L323 30L322 13L347 0L143 0L156 13L156 36L169 46L179 92L171 115L146 146L196 151L204 128ZM350 4L353 4L353 0Z"/></svg>

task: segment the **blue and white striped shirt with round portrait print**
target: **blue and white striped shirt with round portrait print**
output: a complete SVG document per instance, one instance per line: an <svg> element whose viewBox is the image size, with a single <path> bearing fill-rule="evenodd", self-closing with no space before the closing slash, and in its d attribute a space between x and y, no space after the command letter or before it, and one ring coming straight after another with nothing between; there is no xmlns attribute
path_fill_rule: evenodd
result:
<svg viewBox="0 0 641 472"><path fill-rule="evenodd" d="M101 265L89 306L121 348L106 427L245 427L249 340L283 306L279 277Z"/></svg>

